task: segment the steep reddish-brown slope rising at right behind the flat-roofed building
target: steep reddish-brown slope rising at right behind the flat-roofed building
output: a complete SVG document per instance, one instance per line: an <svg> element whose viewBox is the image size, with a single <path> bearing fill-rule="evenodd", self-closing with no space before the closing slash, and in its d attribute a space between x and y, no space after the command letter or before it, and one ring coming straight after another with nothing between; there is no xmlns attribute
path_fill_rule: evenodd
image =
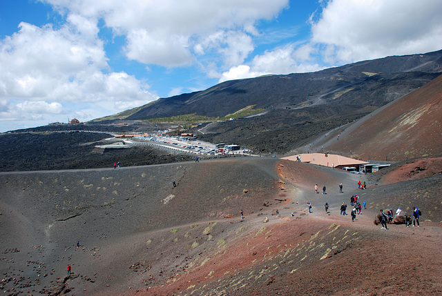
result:
<svg viewBox="0 0 442 296"><path fill-rule="evenodd" d="M365 160L442 155L441 114L442 77L438 77L354 124L336 128L323 146L331 152L352 150L354 157Z"/></svg>

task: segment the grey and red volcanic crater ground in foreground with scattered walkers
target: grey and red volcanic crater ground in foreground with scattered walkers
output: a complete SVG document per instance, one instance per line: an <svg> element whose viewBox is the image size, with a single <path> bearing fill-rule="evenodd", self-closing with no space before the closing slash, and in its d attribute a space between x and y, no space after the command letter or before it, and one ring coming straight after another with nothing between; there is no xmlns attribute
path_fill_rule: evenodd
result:
<svg viewBox="0 0 442 296"><path fill-rule="evenodd" d="M441 176L381 185L361 176L368 188L359 190L358 175L264 157L2 172L1 290L441 294L442 258L434 256L442 241L441 191L435 188ZM340 183L344 193L338 193ZM327 186L327 194L315 194L314 184ZM339 208L356 193L367 209L352 222ZM397 206L419 206L421 227L374 226L379 208Z"/></svg>

